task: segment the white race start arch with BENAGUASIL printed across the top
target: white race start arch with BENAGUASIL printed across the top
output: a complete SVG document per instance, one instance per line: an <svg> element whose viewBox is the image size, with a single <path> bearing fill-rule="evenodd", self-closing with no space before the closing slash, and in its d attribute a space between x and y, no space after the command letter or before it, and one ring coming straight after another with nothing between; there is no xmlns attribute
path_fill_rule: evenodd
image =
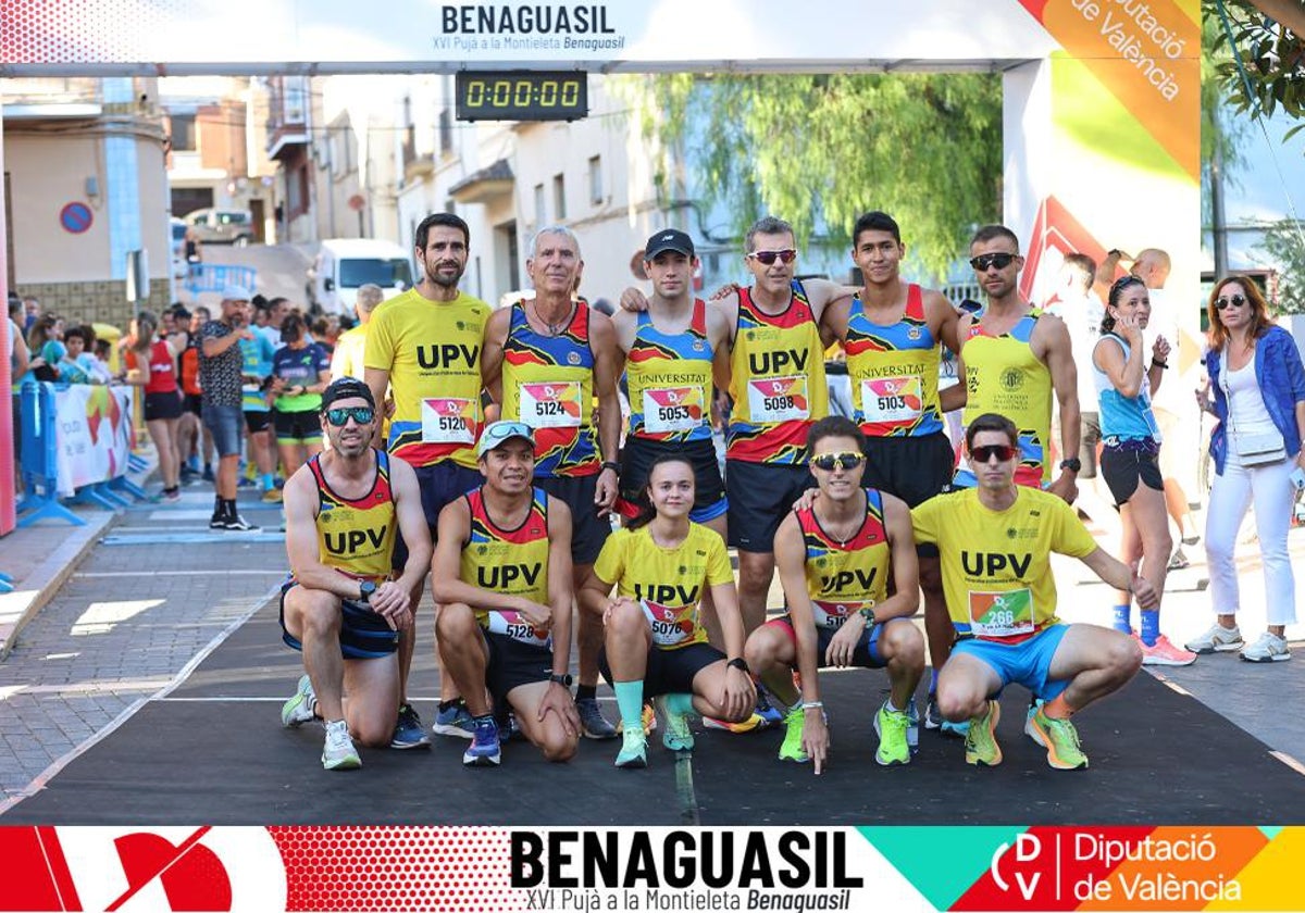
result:
<svg viewBox="0 0 1305 913"><path fill-rule="evenodd" d="M0 76L996 70L1026 293L1045 296L1064 253L1150 247L1173 260L1167 295L1195 303L1199 23L1199 0L7 0ZM1181 313L1188 373L1197 314ZM9 383L5 360L4 398ZM4 472L9 420L0 410Z"/></svg>

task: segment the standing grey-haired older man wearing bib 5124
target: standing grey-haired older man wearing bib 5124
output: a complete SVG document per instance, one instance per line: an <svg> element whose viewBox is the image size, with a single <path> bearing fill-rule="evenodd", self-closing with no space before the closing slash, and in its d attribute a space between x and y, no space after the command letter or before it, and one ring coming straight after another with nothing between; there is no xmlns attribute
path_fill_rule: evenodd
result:
<svg viewBox="0 0 1305 913"><path fill-rule="evenodd" d="M569 228L542 228L526 260L535 297L493 313L480 363L502 417L535 432L535 484L570 507L576 590L612 531L608 511L616 501L621 436L621 353L612 321L572 295L583 269L579 240ZM598 616L579 613L577 640L576 710L583 734L616 738L594 696L603 646Z"/></svg>

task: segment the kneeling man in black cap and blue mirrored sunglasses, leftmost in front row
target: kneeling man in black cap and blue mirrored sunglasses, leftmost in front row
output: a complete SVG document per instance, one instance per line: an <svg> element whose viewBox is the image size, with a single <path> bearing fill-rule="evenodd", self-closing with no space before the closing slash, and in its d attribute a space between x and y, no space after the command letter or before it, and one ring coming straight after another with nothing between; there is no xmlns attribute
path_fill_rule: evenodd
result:
<svg viewBox="0 0 1305 913"><path fill-rule="evenodd" d="M329 771L361 766L354 738L392 743L402 694L395 650L431 560L416 473L371 446L377 424L365 383L348 377L328 386L321 425L330 450L300 467L284 492L291 579L281 591L281 626L286 643L303 651L308 674L281 721L326 723ZM394 578L399 528L408 557Z"/></svg>

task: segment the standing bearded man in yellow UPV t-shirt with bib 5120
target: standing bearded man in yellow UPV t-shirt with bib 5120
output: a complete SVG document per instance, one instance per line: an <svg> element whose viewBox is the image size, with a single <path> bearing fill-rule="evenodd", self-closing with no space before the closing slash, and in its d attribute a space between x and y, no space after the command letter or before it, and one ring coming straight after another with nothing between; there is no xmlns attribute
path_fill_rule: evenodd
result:
<svg viewBox="0 0 1305 913"><path fill-rule="evenodd" d="M425 282L376 310L367 333L367 386L376 402L393 389L394 417L388 450L416 470L422 507L431 535L440 511L480 483L475 443L480 436L480 348L489 305L458 290L467 266L471 232L452 213L428 215L416 227L415 253ZM394 561L407 560L402 537ZM424 580L424 578L423 578ZM420 601L420 583L412 605ZM407 702L414 625L399 646L403 700L394 745L428 745L416 711ZM435 730L471 738L471 720L454 698L449 676L440 677Z"/></svg>

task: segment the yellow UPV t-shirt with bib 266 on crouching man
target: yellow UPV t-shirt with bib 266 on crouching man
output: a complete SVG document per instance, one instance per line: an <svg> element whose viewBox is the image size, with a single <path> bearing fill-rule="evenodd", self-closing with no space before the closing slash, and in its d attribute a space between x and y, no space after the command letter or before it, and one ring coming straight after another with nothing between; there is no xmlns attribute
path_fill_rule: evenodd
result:
<svg viewBox="0 0 1305 913"><path fill-rule="evenodd" d="M1096 550L1071 506L1023 485L1006 510L989 510L970 488L929 498L911 523L917 544L938 546L957 633L987 640L1015 643L1054 625L1052 552L1083 558Z"/></svg>

